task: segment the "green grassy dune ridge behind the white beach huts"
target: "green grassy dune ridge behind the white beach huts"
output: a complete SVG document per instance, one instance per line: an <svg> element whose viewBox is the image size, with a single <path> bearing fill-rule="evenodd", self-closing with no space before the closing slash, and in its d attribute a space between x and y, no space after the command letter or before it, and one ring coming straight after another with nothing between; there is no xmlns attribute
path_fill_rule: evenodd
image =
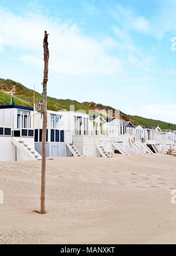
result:
<svg viewBox="0 0 176 256"><path fill-rule="evenodd" d="M11 103L11 95L13 93L13 99L15 100L15 105L21 106L33 106L33 90L26 88L21 85L21 83L14 82L9 79L0 79L0 105L9 105ZM38 103L41 99L40 93L35 93L35 103ZM70 110L70 105L75 106L75 111L84 110L89 113L89 110L93 110L96 107L98 111L101 109L105 110L115 110L113 107L104 106L101 104L96 104L94 102L84 102L79 103L76 100L70 99L55 99L53 97L48 97L48 109L53 111L59 110ZM140 124L141 126L157 126L159 124L161 129L168 129L169 125L166 122L160 120L146 119L140 116L131 116L125 113L120 113L120 117L123 120L130 120L134 124ZM176 130L176 124L171 124L171 129Z"/></svg>

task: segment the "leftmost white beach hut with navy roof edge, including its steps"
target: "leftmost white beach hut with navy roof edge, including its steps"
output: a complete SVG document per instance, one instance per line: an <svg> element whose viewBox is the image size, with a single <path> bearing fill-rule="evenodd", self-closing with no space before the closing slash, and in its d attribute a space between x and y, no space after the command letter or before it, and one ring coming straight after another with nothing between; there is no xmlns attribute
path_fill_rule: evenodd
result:
<svg viewBox="0 0 176 256"><path fill-rule="evenodd" d="M34 148L33 109L0 106L0 161L41 159Z"/></svg>

